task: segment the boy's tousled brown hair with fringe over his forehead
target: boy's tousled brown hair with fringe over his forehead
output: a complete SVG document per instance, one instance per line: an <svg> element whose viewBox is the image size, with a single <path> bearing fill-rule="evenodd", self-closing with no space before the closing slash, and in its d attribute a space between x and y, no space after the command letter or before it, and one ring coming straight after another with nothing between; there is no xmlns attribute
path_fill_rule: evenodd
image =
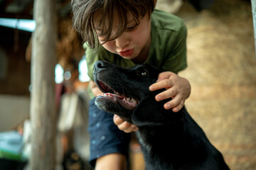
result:
<svg viewBox="0 0 256 170"><path fill-rule="evenodd" d="M73 26L82 35L83 40L93 49L98 42L95 31L95 14L100 13L99 26L104 28L105 38L108 40L118 38L127 28L127 13L131 12L136 25L139 18L148 13L149 17L154 10L154 0L72 0ZM114 14L118 13L119 30L112 37L112 25ZM106 23L109 21L110 23ZM99 43L97 43L99 44Z"/></svg>

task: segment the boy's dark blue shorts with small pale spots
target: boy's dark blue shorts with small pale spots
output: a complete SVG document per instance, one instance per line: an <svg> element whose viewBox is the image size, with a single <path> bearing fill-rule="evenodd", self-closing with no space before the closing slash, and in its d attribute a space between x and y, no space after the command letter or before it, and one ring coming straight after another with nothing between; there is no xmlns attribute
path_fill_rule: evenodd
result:
<svg viewBox="0 0 256 170"><path fill-rule="evenodd" d="M95 98L89 106L90 164L95 166L96 159L106 154L119 153L128 156L131 135L114 125L113 114L95 106Z"/></svg>

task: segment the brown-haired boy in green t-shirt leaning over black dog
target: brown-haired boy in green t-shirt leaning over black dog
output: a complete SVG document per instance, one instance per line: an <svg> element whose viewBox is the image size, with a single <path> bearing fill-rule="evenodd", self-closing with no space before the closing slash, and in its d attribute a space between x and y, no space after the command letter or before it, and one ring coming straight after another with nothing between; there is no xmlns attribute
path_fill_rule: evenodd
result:
<svg viewBox="0 0 256 170"><path fill-rule="evenodd" d="M156 101L170 98L164 104L166 109L178 112L190 95L189 82L177 75L186 68L186 26L180 18L154 10L155 4L156 0L71 1L73 25L86 42L92 98L89 108L90 163L95 169L125 169L130 138L127 133L137 130L117 115L113 122L110 113L95 106L93 98L102 94L93 82L93 64L97 60L121 67L147 63L164 70L149 90L166 89L156 95Z"/></svg>

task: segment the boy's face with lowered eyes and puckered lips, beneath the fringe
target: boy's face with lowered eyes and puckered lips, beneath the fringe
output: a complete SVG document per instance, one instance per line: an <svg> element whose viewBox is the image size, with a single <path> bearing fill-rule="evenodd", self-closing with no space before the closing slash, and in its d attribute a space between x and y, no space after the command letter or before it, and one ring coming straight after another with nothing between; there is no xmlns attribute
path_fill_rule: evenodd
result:
<svg viewBox="0 0 256 170"><path fill-rule="evenodd" d="M146 15L144 18L139 19L139 25L136 26L132 14L128 16L130 17L128 17L127 29L124 33L114 40L105 42L102 46L106 50L120 55L125 59L134 60L134 62L144 62L148 55L151 42L151 19ZM119 27L117 18L113 18L113 20L112 35L117 33ZM96 23L95 26L98 26L98 24ZM100 43L102 43L105 36L101 35L101 28L96 28L96 33Z"/></svg>

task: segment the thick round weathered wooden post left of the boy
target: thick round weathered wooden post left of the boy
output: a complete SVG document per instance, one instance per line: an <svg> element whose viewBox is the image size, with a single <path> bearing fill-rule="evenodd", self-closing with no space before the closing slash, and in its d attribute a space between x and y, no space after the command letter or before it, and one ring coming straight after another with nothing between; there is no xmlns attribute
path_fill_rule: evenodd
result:
<svg viewBox="0 0 256 170"><path fill-rule="evenodd" d="M31 170L55 169L56 0L35 0L31 56Z"/></svg>

